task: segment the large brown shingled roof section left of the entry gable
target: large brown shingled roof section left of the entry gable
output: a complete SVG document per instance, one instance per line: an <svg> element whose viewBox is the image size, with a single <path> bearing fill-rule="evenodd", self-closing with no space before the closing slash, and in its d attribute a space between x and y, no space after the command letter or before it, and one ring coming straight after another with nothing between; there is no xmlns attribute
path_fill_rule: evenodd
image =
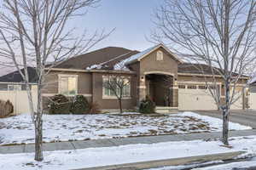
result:
<svg viewBox="0 0 256 170"><path fill-rule="evenodd" d="M138 51L133 51L126 48L118 48L118 47L108 47L101 48L96 51L92 51L87 54L82 54L71 59L67 59L67 61L62 62L60 65L55 66L55 68L63 68L63 69L95 69L98 65L105 63L109 64L111 61L115 59L126 59L133 54L139 53ZM104 69L106 69L104 67Z"/></svg>

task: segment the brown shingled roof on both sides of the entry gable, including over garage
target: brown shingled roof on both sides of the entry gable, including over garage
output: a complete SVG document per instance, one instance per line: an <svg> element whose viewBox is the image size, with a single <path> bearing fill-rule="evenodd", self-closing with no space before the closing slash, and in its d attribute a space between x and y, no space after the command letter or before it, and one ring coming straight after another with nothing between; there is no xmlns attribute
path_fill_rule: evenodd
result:
<svg viewBox="0 0 256 170"><path fill-rule="evenodd" d="M101 65L100 68L94 69L113 70L114 65L138 53L140 52L137 50L130 50L119 47L101 48L87 54L82 54L71 59L67 59L67 61L64 61L63 63L61 63L61 65L55 66L55 68L84 70L91 65ZM179 64L177 72L190 74L204 73L212 75L211 67L209 67L208 65L191 63ZM218 75L218 71L216 71L215 74Z"/></svg>

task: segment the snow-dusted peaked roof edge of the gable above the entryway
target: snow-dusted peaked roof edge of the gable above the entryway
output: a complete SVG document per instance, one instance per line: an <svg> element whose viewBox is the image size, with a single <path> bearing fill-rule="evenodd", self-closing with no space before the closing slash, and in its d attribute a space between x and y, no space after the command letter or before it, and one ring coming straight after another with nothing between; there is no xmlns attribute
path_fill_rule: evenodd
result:
<svg viewBox="0 0 256 170"><path fill-rule="evenodd" d="M144 51L141 52L141 53L132 55L130 58L125 59L124 63L125 63L125 65L129 65L129 64L131 64L131 63L133 63L133 62L140 61L141 59L143 59L143 58L144 58L145 56L147 56L148 54L152 53L152 52L153 52L155 49L157 49L157 48L164 48L169 54L172 55L172 57L173 57L174 59L176 59L176 60L177 60L178 62L180 62L180 63L183 63L183 61L182 61L181 59L178 59L178 57L177 57L175 54L172 54L172 52L171 52L168 48L166 48L165 45L163 45L163 44L161 44L161 43L158 44L158 45L155 45L155 46L152 47L152 48L148 48L148 49L144 50Z"/></svg>

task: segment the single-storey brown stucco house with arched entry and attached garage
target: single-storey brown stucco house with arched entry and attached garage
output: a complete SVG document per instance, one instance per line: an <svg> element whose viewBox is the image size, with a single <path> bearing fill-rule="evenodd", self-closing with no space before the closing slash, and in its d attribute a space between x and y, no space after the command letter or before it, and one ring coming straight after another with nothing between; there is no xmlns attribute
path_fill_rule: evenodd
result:
<svg viewBox="0 0 256 170"><path fill-rule="evenodd" d="M201 67L204 74L198 67ZM133 109L148 95L154 99L159 111L217 110L206 86L212 82L212 71L207 65L184 63L163 44L142 52L126 48L108 47L82 54L61 62L45 77L44 103L55 94L73 97L84 95L103 110L119 108L118 100L102 85L112 75L122 75L131 80L124 89L124 109ZM220 98L224 101L224 83L216 73ZM241 98L231 109L248 107L245 88L247 77L241 77L236 92Z"/></svg>

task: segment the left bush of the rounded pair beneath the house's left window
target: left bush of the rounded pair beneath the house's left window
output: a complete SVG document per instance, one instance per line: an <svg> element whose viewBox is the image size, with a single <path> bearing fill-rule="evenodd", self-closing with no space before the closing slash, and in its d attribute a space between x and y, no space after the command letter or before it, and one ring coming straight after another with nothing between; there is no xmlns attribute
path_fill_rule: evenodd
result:
<svg viewBox="0 0 256 170"><path fill-rule="evenodd" d="M72 102L62 94L57 94L50 99L49 114L70 114Z"/></svg>

